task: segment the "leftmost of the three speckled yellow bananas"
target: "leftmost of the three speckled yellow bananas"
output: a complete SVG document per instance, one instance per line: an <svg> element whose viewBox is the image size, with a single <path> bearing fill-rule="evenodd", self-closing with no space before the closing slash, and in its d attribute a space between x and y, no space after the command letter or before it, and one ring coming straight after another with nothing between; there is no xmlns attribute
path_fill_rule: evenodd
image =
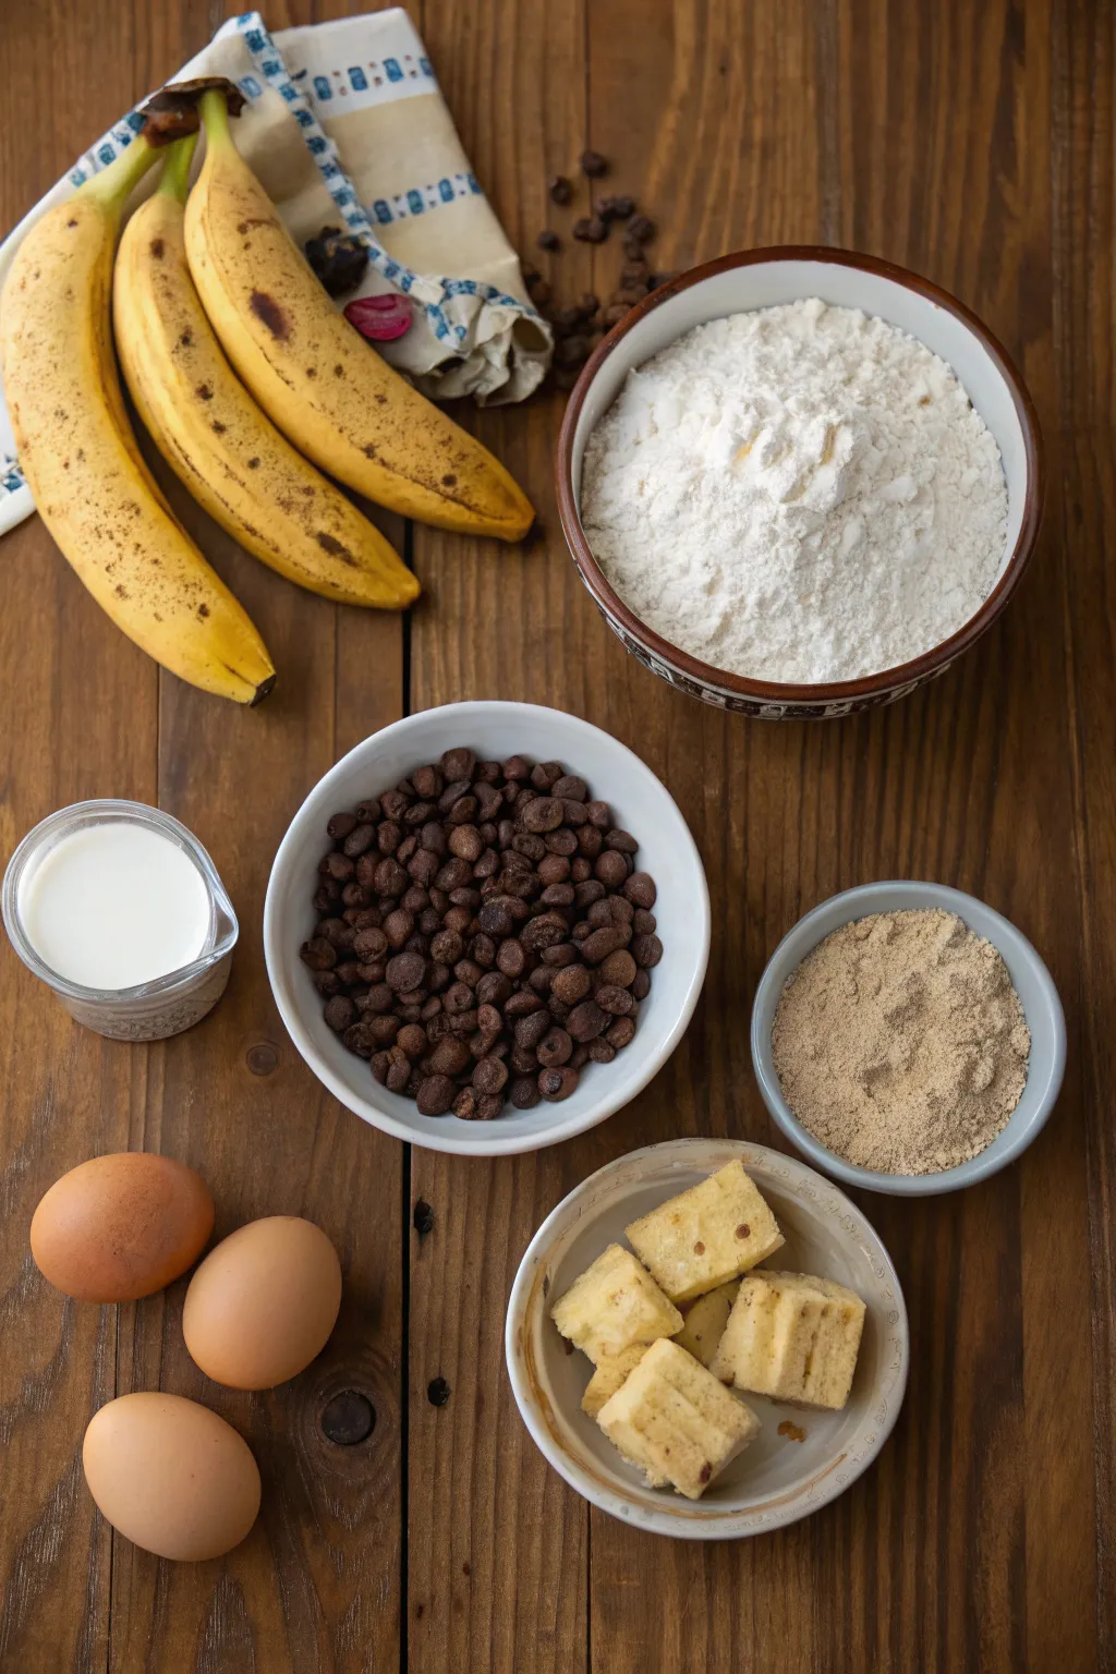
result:
<svg viewBox="0 0 1116 1674"><path fill-rule="evenodd" d="M157 156L141 134L28 231L0 296L3 387L35 506L102 609L181 680L258 703L271 658L147 470L112 358L120 216Z"/></svg>

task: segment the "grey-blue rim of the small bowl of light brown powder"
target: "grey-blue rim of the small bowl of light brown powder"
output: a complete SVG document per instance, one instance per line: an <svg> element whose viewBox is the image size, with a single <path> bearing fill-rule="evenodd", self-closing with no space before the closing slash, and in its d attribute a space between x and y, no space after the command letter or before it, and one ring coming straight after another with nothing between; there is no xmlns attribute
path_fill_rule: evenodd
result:
<svg viewBox="0 0 1116 1674"><path fill-rule="evenodd" d="M898 891L910 897L910 906L939 906L945 911L955 912L970 929L975 929L977 936L985 936L1002 954L1002 941L1012 944L1027 964L1032 968L1034 976L1042 991L1044 1001L1051 1013L1051 1023L1054 1028L1054 1055L1051 1058L1051 1066L1046 1075L1046 1085L1039 1086L1039 1103L1032 1115L1016 1127L1014 1137L1006 1143L1004 1150L992 1157L989 1155L992 1145L987 1145L969 1162L957 1163L954 1168L942 1168L937 1173L880 1173L875 1168L860 1168L857 1163L847 1162L832 1152L822 1140L815 1138L808 1128L798 1120L780 1088L778 1076L775 1073L775 1065L771 1061L771 1041L770 1035L765 1036L760 1023L761 1004L771 993L776 976L775 968L780 956L788 947L791 941L798 941L803 931L808 931L817 921L827 914L837 904L848 904L858 911L852 911L843 924L850 924L853 919L867 917L872 912L892 911L887 907L873 906L878 902L882 891ZM996 936L987 934L967 917L967 911L974 906L980 909L980 917L992 921L996 927ZM838 929L838 924L830 926L830 931ZM827 931L825 934L830 934ZM806 958L820 944L823 937L817 936L803 951L798 954L796 964ZM783 979L785 981L785 979ZM1061 1093L1062 1078L1066 1073L1066 1013L1062 1009L1061 996L1054 986L1054 978L1051 976L1046 961L1039 954L1037 947L1022 934L1022 931L1012 924L1011 919L997 912L979 896L969 896L962 889L954 889L950 884L935 884L925 879L880 879L875 884L857 884L853 889L842 889L835 896L827 896L820 901L817 907L810 912L803 912L800 919L791 924L786 934L780 939L771 958L763 968L763 976L756 983L756 994L751 1004L751 1068L755 1078L760 1085L760 1093L763 1103L766 1105L773 1122L786 1135L791 1143L810 1158L810 1162L825 1170L825 1173L833 1175L833 1178L842 1180L845 1185L855 1185L867 1192L882 1192L887 1197L939 1197L942 1192L959 1192L967 1185L975 1185L979 1180L987 1180L991 1175L999 1173L1001 1168L1007 1168L1009 1163L1016 1162L1022 1152L1039 1137L1046 1127L1057 1096ZM1026 1088L1024 1088L1026 1093ZM1022 1096L1021 1096L1022 1101ZM1012 1132L1012 1123L1017 1122L1019 1105L1012 1110L1007 1123L1001 1130L1001 1135L1009 1135ZM997 1135L997 1138L1001 1137ZM992 1142L996 1143L996 1142Z"/></svg>

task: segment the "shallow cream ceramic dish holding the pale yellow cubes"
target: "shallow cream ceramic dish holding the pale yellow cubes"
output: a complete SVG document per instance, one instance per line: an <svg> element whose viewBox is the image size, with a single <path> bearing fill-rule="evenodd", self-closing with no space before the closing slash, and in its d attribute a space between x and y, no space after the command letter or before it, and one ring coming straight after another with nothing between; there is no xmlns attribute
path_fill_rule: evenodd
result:
<svg viewBox="0 0 1116 1674"><path fill-rule="evenodd" d="M637 1215L740 1157L786 1244L768 1266L850 1286L868 1304L857 1374L842 1413L745 1399L763 1428L698 1502L648 1488L581 1411L592 1366L567 1353L550 1306ZM602 1512L679 1540L735 1540L808 1517L857 1480L887 1441L907 1388L907 1309L895 1269L855 1204L793 1157L743 1140L671 1140L591 1175L527 1245L507 1311L507 1369L539 1450ZM801 1441L780 1425L803 1431Z"/></svg>

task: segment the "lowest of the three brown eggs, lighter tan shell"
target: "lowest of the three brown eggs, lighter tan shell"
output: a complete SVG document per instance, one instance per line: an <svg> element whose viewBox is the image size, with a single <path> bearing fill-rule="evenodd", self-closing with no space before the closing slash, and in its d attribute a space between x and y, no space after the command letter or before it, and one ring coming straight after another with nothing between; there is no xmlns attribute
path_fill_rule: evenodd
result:
<svg viewBox="0 0 1116 1674"><path fill-rule="evenodd" d="M161 1558L218 1558L259 1512L259 1470L248 1443L181 1394L109 1401L89 1423L82 1465L102 1517Z"/></svg>

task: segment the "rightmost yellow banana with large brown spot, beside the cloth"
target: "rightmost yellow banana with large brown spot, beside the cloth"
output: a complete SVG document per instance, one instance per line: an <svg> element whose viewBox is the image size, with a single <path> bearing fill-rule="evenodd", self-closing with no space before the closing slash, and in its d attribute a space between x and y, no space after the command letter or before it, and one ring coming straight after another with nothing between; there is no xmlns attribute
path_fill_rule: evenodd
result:
<svg viewBox="0 0 1116 1674"><path fill-rule="evenodd" d="M333 477L405 517L519 541L534 512L470 435L340 315L241 157L223 92L201 95L206 161L186 204L194 285L264 412Z"/></svg>

